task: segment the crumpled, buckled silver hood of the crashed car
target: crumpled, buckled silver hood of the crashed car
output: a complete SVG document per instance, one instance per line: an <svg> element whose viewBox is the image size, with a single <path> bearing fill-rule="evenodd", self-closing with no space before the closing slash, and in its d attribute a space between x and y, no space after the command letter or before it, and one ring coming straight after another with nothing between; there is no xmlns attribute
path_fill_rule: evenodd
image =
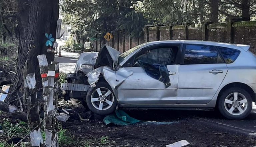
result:
<svg viewBox="0 0 256 147"><path fill-rule="evenodd" d="M75 73L78 70L90 72L91 70L101 66L118 66L118 58L120 52L116 49L104 44L99 52L81 53L75 66Z"/></svg>

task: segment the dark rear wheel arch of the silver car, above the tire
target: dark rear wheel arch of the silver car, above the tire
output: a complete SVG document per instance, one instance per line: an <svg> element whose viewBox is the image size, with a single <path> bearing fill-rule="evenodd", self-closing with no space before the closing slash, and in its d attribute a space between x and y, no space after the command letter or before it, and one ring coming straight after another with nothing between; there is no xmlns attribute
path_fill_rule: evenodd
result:
<svg viewBox="0 0 256 147"><path fill-rule="evenodd" d="M255 97L255 93L254 93L253 89L252 89L250 86L248 86L247 84L240 83L240 82L229 83L229 84L225 85L224 87L222 87L222 89L220 90L220 92L219 92L219 94L218 94L217 101L218 101L218 99L219 99L221 93L222 93L224 90L226 90L226 89L228 89L228 88L230 88L230 87L239 87L239 88L245 89L245 90L246 90L247 92L249 92L249 94L251 95L252 101L253 101L253 102L256 102L256 97Z"/></svg>

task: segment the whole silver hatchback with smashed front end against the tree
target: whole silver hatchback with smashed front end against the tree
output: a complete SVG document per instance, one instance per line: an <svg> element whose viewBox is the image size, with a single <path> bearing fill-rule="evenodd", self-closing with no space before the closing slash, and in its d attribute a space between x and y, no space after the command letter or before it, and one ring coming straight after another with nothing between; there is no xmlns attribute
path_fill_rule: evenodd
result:
<svg viewBox="0 0 256 147"><path fill-rule="evenodd" d="M174 40L143 43L120 54L103 45L80 55L61 88L65 100L81 100L99 115L118 107L190 107L217 108L226 118L243 119L256 91L256 57L249 47Z"/></svg>

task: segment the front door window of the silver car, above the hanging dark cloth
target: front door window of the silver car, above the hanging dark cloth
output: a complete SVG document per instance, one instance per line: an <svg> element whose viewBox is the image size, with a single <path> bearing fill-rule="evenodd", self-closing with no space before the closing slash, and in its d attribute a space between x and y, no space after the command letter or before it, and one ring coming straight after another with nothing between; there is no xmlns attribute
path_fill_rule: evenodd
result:
<svg viewBox="0 0 256 147"><path fill-rule="evenodd" d="M172 48L167 47L167 48L156 48L156 49L151 49L151 50L143 50L142 53L140 53L136 58L135 62L139 60L140 58L146 58L146 59L151 59L152 61L156 61L157 63L160 64L167 64L169 57L171 55Z"/></svg>

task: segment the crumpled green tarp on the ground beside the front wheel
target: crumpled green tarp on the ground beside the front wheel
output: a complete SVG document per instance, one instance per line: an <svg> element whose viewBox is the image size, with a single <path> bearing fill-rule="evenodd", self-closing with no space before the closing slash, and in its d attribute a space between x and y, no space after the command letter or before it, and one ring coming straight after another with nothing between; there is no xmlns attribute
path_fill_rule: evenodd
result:
<svg viewBox="0 0 256 147"><path fill-rule="evenodd" d="M127 113L122 110L115 110L115 113L106 116L103 119L106 125L129 125L141 122L135 118L130 117Z"/></svg>

